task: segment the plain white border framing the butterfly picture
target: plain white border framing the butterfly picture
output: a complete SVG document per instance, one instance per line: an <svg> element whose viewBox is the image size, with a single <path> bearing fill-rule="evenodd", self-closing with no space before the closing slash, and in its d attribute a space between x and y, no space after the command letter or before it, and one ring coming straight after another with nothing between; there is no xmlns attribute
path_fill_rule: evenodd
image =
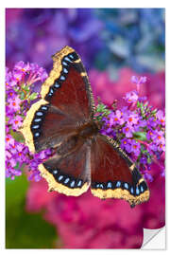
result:
<svg viewBox="0 0 170 256"><path fill-rule="evenodd" d="M0 93L0 97L1 97L1 101L0 101L0 104L1 104L1 109L3 109L1 111L1 114L2 112L4 113L4 95L5 95L5 89L4 89L4 66L5 66L5 8L63 8L64 7L64 4L65 4L65 7L64 8L165 8L167 6L167 3L169 1L146 1L146 0L143 0L142 2L140 1L131 1L131 0L128 0L128 1L123 1L123 0L119 0L119 1L97 1L97 2L94 2L94 1L91 1L91 5L90 3L88 3L88 1L83 1L82 3L80 3L80 1L65 1L64 4L63 2L60 2L60 1L33 1L33 0L29 0L28 2L27 1L21 1L21 0L15 0L15 1L8 1L6 0L5 2L4 1L1 1L3 3L0 4L0 24L1 24L1 44L0 44L0 70L1 70L1 75L0 75L0 84L1 84L1 93ZM81 5L80 5L81 4ZM97 4L97 6L96 6ZM104 5L105 4L105 5ZM110 6L111 5L111 6ZM170 27L169 25L169 18L170 17L170 13L169 13L169 9L167 8L166 9L166 27ZM167 34L166 34L167 36ZM166 56L168 56L168 46L169 44L167 44L167 41L168 39L166 40ZM170 43L170 42L168 42ZM167 64L166 66L168 66L168 60L166 61ZM167 70L168 71L168 70ZM168 73L166 73L166 81L168 81ZM167 97L169 98L170 96L170 84L168 84L168 82L166 82L167 86L166 86L166 100ZM168 129L168 126L169 126L169 120L168 120L168 116L167 114L169 115L168 113L168 109L169 109L169 104L170 104L170 101L166 101L166 125L167 125L167 129L166 131L170 131L170 127ZM0 120L1 120L1 125L3 125L3 128L1 126L1 131L2 133L4 132L4 123L5 123L5 119L4 119L4 115L0 115ZM5 155L4 155L4 136L2 136L2 133L1 133L1 136L0 136L0 145L1 145L1 154L0 154L0 162L1 162L1 172L0 172L0 247L1 248L5 248L5 175L4 175L4 159L5 159ZM169 141L169 135L168 133L166 133L166 141L168 142ZM166 155L167 155L167 152L168 152L168 146L166 147ZM168 159L167 159L168 160ZM170 194L170 186L167 186L167 177L168 177L168 172L170 172L168 169L168 166L169 164L166 163L166 190L167 190L167 194ZM169 190L169 192L168 192ZM167 198L167 197L166 197ZM168 216L168 211L169 211L169 204L168 204L168 200L166 200L166 216ZM166 223L168 223L168 228L169 228L169 222L166 218ZM162 250L161 253L168 253L168 245L167 245L167 250ZM34 249L29 249L29 250L24 250L24 249L6 249L4 250L3 249L3 254L4 255L8 255L8 253L17 253L17 254L26 254L26 255L30 255L30 253L41 253L41 256L42 255L46 255L47 253L50 253L50 254L53 254L55 253L58 253L58 254L74 254L74 255L79 255L79 254L86 254L86 253L97 253L97 255L102 255L103 256L103 253L105 255L113 255L114 253L116 253L116 255L125 255L126 254L133 254L133 253L146 253L146 251L142 251L142 250L103 250L103 249L97 249L97 250L56 250L56 249L45 249L45 250L42 250L42 249L39 249L39 250L34 250ZM160 255L160 251L159 250L154 250L153 251L155 255L159 254ZM150 253L150 252L149 252Z"/></svg>

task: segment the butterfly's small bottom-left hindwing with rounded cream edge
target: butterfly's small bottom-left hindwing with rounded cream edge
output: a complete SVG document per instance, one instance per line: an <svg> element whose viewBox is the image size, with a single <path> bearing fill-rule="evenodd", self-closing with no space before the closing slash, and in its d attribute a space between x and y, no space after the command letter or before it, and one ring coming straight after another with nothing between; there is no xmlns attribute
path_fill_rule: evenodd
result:
<svg viewBox="0 0 170 256"><path fill-rule="evenodd" d="M76 150L68 155L54 155L39 166L48 181L49 191L66 195L80 195L90 186L90 147L77 143Z"/></svg>

